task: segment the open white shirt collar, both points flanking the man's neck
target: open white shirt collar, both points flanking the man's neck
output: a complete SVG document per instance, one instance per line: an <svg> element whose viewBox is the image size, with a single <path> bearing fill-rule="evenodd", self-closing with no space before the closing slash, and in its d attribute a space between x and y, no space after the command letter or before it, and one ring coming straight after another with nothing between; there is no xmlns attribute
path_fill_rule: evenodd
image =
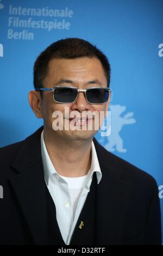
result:
<svg viewBox="0 0 163 256"><path fill-rule="evenodd" d="M95 172L96 172L96 176L97 176L97 184L99 184L99 182L102 179L102 172L101 172L101 169L99 167L96 148L95 148L95 145L94 145L93 141L92 141L92 145L91 145L91 154L92 154L92 161L91 161L90 170L87 174L88 175L87 185L89 184L89 181L91 180L92 175ZM42 155L42 162L43 162L43 170L44 170L45 180L46 180L46 183L48 184L49 177L54 173L58 175L58 173L55 170L55 168L52 164L52 161L51 161L51 159L48 155L46 145L45 145L45 141L43 139L43 131L41 133L41 155Z"/></svg>

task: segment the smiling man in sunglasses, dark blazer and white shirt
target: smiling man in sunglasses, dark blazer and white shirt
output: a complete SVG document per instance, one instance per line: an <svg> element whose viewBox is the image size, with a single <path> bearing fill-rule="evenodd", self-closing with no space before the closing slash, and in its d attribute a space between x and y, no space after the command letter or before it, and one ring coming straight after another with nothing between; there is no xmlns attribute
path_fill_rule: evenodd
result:
<svg viewBox="0 0 163 256"><path fill-rule="evenodd" d="M82 39L36 59L29 103L43 127L1 148L2 244L161 244L155 180L93 138L103 119L87 113L106 116L109 83L108 59Z"/></svg>

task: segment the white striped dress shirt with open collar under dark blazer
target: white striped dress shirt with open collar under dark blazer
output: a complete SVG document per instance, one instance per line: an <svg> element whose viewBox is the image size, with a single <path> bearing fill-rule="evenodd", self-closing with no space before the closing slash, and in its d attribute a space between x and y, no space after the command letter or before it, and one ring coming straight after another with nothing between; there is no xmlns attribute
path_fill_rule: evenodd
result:
<svg viewBox="0 0 163 256"><path fill-rule="evenodd" d="M65 177L57 173L48 155L43 139L43 131L41 133L41 154L45 182L55 204L57 222L62 239L66 245L69 245L74 227L83 209L87 194L90 191L92 175L96 172L97 184L99 184L102 178L95 145L92 141L92 161L89 172L87 175L77 178Z"/></svg>

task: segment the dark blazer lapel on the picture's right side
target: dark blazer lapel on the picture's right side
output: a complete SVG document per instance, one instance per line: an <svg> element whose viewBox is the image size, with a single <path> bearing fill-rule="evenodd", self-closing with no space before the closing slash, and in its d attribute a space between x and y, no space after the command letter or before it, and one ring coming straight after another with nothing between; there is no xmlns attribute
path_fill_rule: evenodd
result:
<svg viewBox="0 0 163 256"><path fill-rule="evenodd" d="M120 245L130 184L121 179L121 169L112 169L105 149L94 143L103 175L96 188L96 245Z"/></svg>

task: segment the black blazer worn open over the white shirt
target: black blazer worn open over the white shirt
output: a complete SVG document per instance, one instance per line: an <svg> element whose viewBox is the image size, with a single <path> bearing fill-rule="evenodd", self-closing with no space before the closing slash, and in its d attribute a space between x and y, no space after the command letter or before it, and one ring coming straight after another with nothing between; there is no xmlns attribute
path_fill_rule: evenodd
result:
<svg viewBox="0 0 163 256"><path fill-rule="evenodd" d="M0 244L47 244L42 129L0 149ZM96 183L95 244L161 245L160 202L154 178L106 151L95 138L93 142L103 175L99 185ZM85 225L71 245L91 243L91 203L87 196L81 213Z"/></svg>

